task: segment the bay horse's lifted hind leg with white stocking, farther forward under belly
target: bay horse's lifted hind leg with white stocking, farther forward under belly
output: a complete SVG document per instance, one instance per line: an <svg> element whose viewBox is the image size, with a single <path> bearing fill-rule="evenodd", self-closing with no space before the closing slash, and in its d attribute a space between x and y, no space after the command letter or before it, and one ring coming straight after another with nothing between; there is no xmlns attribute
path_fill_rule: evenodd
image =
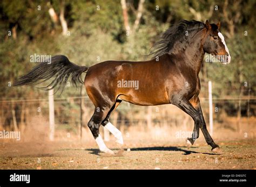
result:
<svg viewBox="0 0 256 187"><path fill-rule="evenodd" d="M117 139L116 140L117 143L120 143L120 145L123 145L124 141L123 141L122 133L115 126L113 126L109 121L110 114L112 113L112 111L114 111L117 108L117 106L121 102L122 100L119 100L119 99L116 101L114 106L111 108L111 110L107 114L107 117L102 121L102 125L114 135L114 138Z"/></svg>

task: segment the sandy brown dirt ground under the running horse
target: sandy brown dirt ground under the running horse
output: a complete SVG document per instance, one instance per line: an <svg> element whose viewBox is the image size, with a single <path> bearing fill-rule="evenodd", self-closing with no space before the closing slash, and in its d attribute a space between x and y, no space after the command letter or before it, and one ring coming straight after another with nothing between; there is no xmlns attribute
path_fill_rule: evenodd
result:
<svg viewBox="0 0 256 187"><path fill-rule="evenodd" d="M214 154L204 139L193 147L180 142L126 140L116 155L100 153L96 142L0 142L1 169L256 169L253 139L217 141L223 154Z"/></svg>

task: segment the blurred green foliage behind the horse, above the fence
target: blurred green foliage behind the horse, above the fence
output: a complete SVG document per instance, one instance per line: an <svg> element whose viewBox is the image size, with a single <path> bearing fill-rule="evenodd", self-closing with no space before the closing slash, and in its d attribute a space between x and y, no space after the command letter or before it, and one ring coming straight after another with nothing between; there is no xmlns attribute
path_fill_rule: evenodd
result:
<svg viewBox="0 0 256 187"><path fill-rule="evenodd" d="M139 1L126 2L132 27ZM48 12L52 7L59 16L61 3L56 0L0 2L1 99L47 95L32 87L8 87L8 82L13 82L34 66L29 62L30 55L64 54L70 61L85 66L105 60L148 60L147 54L157 35L181 19L199 18L200 21L209 19L211 23L221 21L221 31L232 56L228 66L205 63L207 72L204 76L200 74L203 76L202 85L212 80L214 96L238 96L241 86L248 82L251 95L255 95L255 1L145 1L139 27L129 37L126 36L120 1L111 0L65 1L65 20L70 35L63 36L59 20L55 25ZM218 10L214 9L215 6ZM14 28L16 39L8 35ZM244 95L247 95L246 91ZM70 87L64 91L63 97L74 93L79 95L79 91Z"/></svg>

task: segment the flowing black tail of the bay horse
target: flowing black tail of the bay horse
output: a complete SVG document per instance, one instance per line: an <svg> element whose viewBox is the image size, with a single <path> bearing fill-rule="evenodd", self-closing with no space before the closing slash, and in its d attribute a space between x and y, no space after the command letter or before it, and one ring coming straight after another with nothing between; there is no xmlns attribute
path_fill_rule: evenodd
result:
<svg viewBox="0 0 256 187"><path fill-rule="evenodd" d="M81 75L88 70L88 67L77 66L75 63L70 62L68 57L64 55L53 56L49 62L40 62L28 74L19 78L14 83L14 86L36 85L52 79L48 86L40 88L44 90L57 88L57 92L59 89L64 90L70 76L72 83L76 87L77 83L83 83Z"/></svg>

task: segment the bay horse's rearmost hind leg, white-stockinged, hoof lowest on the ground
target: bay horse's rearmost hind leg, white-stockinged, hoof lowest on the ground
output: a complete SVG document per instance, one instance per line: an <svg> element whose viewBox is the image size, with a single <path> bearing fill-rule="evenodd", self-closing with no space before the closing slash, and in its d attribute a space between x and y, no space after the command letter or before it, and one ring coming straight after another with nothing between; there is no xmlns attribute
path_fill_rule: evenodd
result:
<svg viewBox="0 0 256 187"><path fill-rule="evenodd" d="M106 109L106 107L95 107L95 112L93 113L88 126L92 132L93 137L95 138L99 150L104 152L104 153L109 153L109 154L114 154L112 150L106 147L102 136L99 134L99 127L100 124L102 124L102 121L106 118L107 113L109 112L110 109Z"/></svg>

